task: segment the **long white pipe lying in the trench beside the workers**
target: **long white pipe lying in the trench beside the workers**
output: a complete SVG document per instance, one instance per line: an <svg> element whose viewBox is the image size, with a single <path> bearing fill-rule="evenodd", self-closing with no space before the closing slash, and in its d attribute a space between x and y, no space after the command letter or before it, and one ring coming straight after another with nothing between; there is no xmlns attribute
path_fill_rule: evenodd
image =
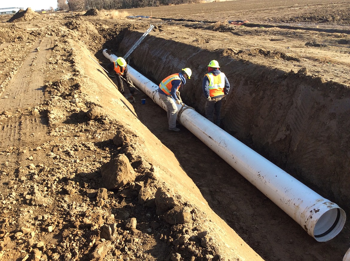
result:
<svg viewBox="0 0 350 261"><path fill-rule="evenodd" d="M110 61L118 58L103 50ZM156 104L166 110L158 85L128 65L129 77ZM318 242L334 238L344 227L346 214L337 204L290 176L266 158L188 106L178 105L178 121L223 160L257 187Z"/></svg>

